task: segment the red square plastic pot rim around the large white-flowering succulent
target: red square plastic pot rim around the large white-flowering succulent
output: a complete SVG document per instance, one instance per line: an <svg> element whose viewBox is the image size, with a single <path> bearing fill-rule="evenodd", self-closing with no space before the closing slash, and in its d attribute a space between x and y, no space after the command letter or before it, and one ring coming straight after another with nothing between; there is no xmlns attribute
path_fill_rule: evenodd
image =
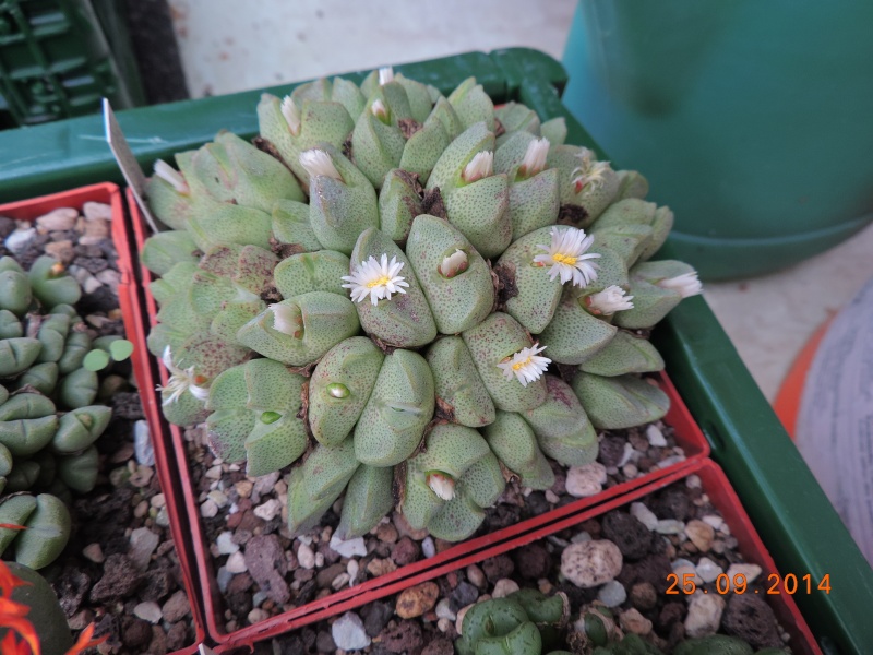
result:
<svg viewBox="0 0 873 655"><path fill-rule="evenodd" d="M129 192L129 204L131 211L131 218L133 223L133 231L136 239L136 247L142 250L145 238L147 237L148 228L143 219L136 203ZM145 310L148 315L148 324L154 325L157 315L157 306L152 294L148 290L148 283L152 282L153 276L151 272L144 266L140 270L140 275L143 284L143 291L145 294ZM137 342L137 350L147 353L145 347L145 335L141 335L141 341ZM168 373L156 358L151 358L159 369L159 381L166 383ZM152 367L143 367L144 372L151 372ZM584 510L588 507L595 505L600 502L620 497L629 493L630 491L662 476L669 475L671 472L681 469L689 462L696 462L709 454L709 445L701 432L699 428L694 422L687 408L682 400L677 394L675 388L670 382L666 374L661 374L659 384L661 389L670 396L671 409L665 417L665 422L670 425L675 432L677 444L681 445L685 453L685 460L682 462L673 463L661 469L656 469L645 476L641 476L633 480L615 485L593 497L582 498L577 501L571 502L564 507L554 509L552 511L540 514L536 517L528 519L515 525L502 528L500 531L468 539L459 543L456 546L444 550L436 556L422 559L421 561L407 564L394 571L393 573L373 577L359 585L336 592L324 598L314 600L307 605L302 605L295 609L288 610L284 614L271 617L252 626L241 628L235 632L228 633L224 629L223 608L224 603L222 595L218 591L215 571L213 570L212 555L208 549L208 544L204 539L204 531L199 520L200 512L196 504L196 497L192 479L186 464L184 444L181 430L176 426L168 425L160 415L160 402L157 394L152 393L151 390L155 388L155 378L144 379L140 383L140 389L143 390L143 406L148 410L146 416L150 420L150 428L155 434L156 439L171 444L176 453L176 461L179 463L179 471L177 472L178 479L181 483L182 499L184 503L184 511L188 516L193 517L191 521L191 539L194 550L194 560L198 565L198 577L201 582L201 591L203 598L203 606L205 611L206 626L210 636L217 643L250 643L273 634L279 634L291 628L303 626L311 621L318 620L318 617L324 616L324 612L331 612L331 608L339 603L350 599L360 598L362 594L367 594L388 584L400 584L402 581L423 572L430 571L434 567L445 565L449 562L457 560L462 557L470 556L485 548L501 544L513 537L523 535L529 531L541 528L550 523L560 519L571 516L576 512ZM151 397L145 397L151 395Z"/></svg>

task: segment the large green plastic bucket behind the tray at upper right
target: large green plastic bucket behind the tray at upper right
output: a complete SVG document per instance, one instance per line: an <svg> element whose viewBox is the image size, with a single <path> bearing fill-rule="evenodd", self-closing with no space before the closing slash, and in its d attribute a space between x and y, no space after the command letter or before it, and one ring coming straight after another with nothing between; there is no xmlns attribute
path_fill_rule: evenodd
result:
<svg viewBox="0 0 873 655"><path fill-rule="evenodd" d="M584 0L567 108L677 214L709 279L766 273L873 219L873 2Z"/></svg>

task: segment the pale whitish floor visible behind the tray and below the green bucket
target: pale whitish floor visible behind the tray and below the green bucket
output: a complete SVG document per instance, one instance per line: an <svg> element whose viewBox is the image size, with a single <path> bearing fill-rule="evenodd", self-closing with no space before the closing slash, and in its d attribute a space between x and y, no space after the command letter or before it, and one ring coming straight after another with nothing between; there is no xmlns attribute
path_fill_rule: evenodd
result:
<svg viewBox="0 0 873 655"><path fill-rule="evenodd" d="M511 46L560 59L576 7L576 0L260 0L240 11L234 0L169 3L193 97ZM815 329L873 277L871 252L873 226L787 271L705 285L768 398Z"/></svg>

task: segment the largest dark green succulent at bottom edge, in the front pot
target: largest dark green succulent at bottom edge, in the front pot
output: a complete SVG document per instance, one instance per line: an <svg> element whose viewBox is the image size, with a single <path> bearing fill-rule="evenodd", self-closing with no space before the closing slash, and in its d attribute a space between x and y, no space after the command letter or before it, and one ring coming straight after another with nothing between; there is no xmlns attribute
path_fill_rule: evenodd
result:
<svg viewBox="0 0 873 655"><path fill-rule="evenodd" d="M477 603L464 615L458 655L570 655L563 629L570 602L563 593L547 597L519 590L503 598ZM559 648L559 650L554 650Z"/></svg>

